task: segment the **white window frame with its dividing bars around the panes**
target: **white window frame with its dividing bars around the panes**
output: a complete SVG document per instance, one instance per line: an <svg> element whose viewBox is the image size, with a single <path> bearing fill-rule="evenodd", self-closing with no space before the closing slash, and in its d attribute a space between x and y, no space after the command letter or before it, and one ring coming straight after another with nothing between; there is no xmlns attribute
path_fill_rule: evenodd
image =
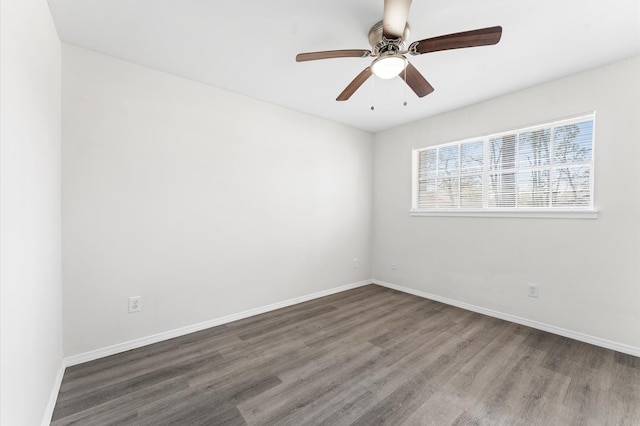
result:
<svg viewBox="0 0 640 426"><path fill-rule="evenodd" d="M527 132L532 132L541 129L550 129L550 133L552 134L549 144L550 144L550 158L549 165L545 166L545 169L549 170L549 179L552 177L552 172L554 171L554 163L552 160L552 152L553 152L553 144L554 144L554 136L553 133L557 127L573 124L573 123L581 123L585 121L591 120L592 122L592 134L591 134L591 159L588 162L581 162L577 166L587 165L589 167L589 188L590 188L590 205L587 206L573 206L573 207L553 207L551 205L544 207L489 207L489 185L488 179L490 176L490 161L489 158L489 150L490 150L490 140L507 136L507 135L516 135L516 153L518 155L520 149L520 135ZM487 134L484 136L466 138L463 140L456 140L453 142L446 142L442 144L436 144L432 146L426 146L421 148L414 148L412 150L411 159L412 159L412 174L411 174L411 209L409 211L411 216L449 216L449 217L514 217L514 218L563 218L563 219L597 219L598 210L595 208L595 137L596 137L596 113L595 111L584 113L576 116L571 116L559 120L553 120L545 123L530 125L526 127L515 128L511 130L504 130L496 133ZM466 143L482 141L483 142L483 171L482 171L482 208L464 208L464 207L454 207L454 208L428 208L428 209L419 209L418 208L418 200L420 193L420 176L419 176L419 166L420 166L420 153L427 150L440 149L447 146L458 146L458 150L460 152L460 147ZM439 150L436 151L439 153ZM437 155L437 154L436 154ZM460 154L458 157L458 161L460 163ZM513 173L520 173L523 169L530 170L534 167L521 167L519 164L519 159L514 160L516 168L513 169ZM573 164L573 163L572 163ZM437 170L437 166L436 166ZM462 173L458 169L458 177L461 176ZM437 182L438 175L436 175ZM551 181L549 181L549 185L551 185ZM516 199L517 197L517 189L516 189ZM552 190L549 191L549 196L553 197ZM459 195L460 197L460 195ZM517 201L516 201L517 204Z"/></svg>

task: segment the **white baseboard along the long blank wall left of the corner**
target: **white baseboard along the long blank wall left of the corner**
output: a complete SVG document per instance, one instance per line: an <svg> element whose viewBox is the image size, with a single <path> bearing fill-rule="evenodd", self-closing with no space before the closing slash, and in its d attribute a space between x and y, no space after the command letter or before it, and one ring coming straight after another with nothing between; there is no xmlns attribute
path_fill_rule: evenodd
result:
<svg viewBox="0 0 640 426"><path fill-rule="evenodd" d="M84 362L89 362L99 358L104 358L106 356L115 355L120 352L129 351L131 349L137 349L146 345L151 345L153 343L158 343L164 340L173 339L174 337L184 336L186 334L194 333L196 331L201 331L207 328L216 327L218 325L227 324L240 319L252 317L254 315L275 311L276 309L286 308L287 306L295 305L297 303L307 302L309 300L317 299L324 296L329 296L331 294L340 293L342 291L351 290L351 289L362 287L368 284L372 284L372 280L358 281L358 282L343 285L340 287L334 287L329 290L323 290L323 291L308 294L305 296L294 297L293 299L273 303L271 305L262 306L255 309L249 309L247 311L239 312L237 314L231 314L224 317L215 318L209 321L188 325L186 327L176 328L173 330L165 331L165 332L154 334L151 336L142 337L140 339L118 343L116 345L107 346L105 348L97 349L94 351L89 351L89 352L84 352L77 355L68 356L64 359L64 365L72 366L72 365L82 364Z"/></svg>

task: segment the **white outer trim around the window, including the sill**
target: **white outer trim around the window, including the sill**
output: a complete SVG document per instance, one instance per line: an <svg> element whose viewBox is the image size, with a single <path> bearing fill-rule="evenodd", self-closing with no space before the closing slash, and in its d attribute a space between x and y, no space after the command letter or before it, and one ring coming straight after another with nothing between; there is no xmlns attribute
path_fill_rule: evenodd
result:
<svg viewBox="0 0 640 426"><path fill-rule="evenodd" d="M428 209L428 210L420 210L417 208L418 202L418 193L419 193L419 185L418 182L418 166L419 166L419 153L421 151L427 149L433 149L435 147L443 147L447 145L460 145L465 142L471 142L475 140L487 140L492 137L500 137L503 135L509 135L513 133L523 133L530 130L539 129L544 126L560 126L564 123L573 123L579 122L583 120L593 120L593 138L595 139L596 134L596 113L595 111L584 113L564 119L554 120L551 122L540 123L536 125L531 125L527 127L521 127L511 130L500 131L497 133L491 133L484 136L467 138L464 140L448 142L437 144L433 146L415 148L412 151L412 173L411 173L411 210L409 210L410 216L415 217L491 217L491 218L547 218L547 219L597 219L599 211L595 207L575 207L575 208L553 208L553 207L544 207L544 208L487 208L484 207L482 209ZM485 150L487 149L487 144L485 144ZM590 162L591 165L591 204L595 206L595 181L593 172L595 168L595 141L591 147L592 149L592 160ZM487 153L485 152L485 158ZM487 163L485 162L485 167L487 167ZM487 191L487 187L483 185L483 192ZM483 194L483 201L486 200L486 194Z"/></svg>

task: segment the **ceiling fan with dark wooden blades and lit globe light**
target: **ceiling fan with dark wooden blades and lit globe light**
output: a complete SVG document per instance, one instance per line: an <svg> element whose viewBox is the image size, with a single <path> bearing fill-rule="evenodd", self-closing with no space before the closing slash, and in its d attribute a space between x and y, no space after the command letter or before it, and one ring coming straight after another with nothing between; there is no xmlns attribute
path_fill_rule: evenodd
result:
<svg viewBox="0 0 640 426"><path fill-rule="evenodd" d="M323 52L300 53L297 62L330 58L375 58L338 95L336 101L346 101L372 75L388 79L400 76L418 97L433 92L433 87L420 72L407 61L405 55L422 55L441 50L461 49L464 47L488 46L497 44L502 36L502 27L488 27L461 33L414 41L407 47L409 24L407 17L411 0L384 0L382 21L369 30L371 50L348 49Z"/></svg>

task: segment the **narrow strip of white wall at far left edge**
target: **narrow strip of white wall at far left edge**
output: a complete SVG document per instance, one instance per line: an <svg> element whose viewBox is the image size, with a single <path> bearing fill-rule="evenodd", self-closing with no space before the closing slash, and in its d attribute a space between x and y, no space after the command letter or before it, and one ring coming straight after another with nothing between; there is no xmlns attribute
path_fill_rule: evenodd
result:
<svg viewBox="0 0 640 426"><path fill-rule="evenodd" d="M0 423L35 425L62 365L61 53L45 0L1 8Z"/></svg>

